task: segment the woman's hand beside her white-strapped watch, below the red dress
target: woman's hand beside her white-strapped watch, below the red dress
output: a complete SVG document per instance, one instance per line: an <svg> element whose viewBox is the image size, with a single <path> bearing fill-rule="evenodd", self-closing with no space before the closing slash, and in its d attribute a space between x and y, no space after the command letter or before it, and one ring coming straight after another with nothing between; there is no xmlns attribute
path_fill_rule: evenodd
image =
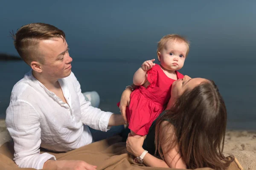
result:
<svg viewBox="0 0 256 170"><path fill-rule="evenodd" d="M129 133L128 138L126 140L127 151L136 157L140 156L144 151L142 145L143 145L145 138L146 138L146 136L141 136L140 138L135 138L134 136L131 135L131 133Z"/></svg>

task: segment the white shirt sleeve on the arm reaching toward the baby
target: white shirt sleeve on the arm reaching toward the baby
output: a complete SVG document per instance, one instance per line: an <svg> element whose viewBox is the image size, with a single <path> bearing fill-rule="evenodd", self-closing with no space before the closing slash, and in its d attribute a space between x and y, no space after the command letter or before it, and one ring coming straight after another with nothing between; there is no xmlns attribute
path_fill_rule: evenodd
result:
<svg viewBox="0 0 256 170"><path fill-rule="evenodd" d="M75 76L74 76L75 77ZM113 113L105 112L99 108L94 108L91 106L89 101L86 101L84 95L81 93L81 85L75 77L76 81L76 91L79 96L80 108L81 108L81 121L84 125L101 130L108 131L110 127L108 126L109 119Z"/></svg>

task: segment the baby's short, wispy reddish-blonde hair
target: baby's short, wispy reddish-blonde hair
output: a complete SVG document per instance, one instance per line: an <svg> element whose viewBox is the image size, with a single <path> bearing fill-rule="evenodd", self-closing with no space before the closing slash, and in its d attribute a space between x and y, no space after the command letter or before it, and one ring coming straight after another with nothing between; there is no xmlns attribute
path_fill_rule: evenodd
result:
<svg viewBox="0 0 256 170"><path fill-rule="evenodd" d="M189 45L190 45L189 40L186 40L185 37L182 37L178 34L168 34L168 35L163 36L161 38L161 40L157 43L157 54L158 54L158 52L160 52L163 49L166 42L169 42L169 41L175 41L178 43L184 42L188 46L186 56L189 54Z"/></svg>

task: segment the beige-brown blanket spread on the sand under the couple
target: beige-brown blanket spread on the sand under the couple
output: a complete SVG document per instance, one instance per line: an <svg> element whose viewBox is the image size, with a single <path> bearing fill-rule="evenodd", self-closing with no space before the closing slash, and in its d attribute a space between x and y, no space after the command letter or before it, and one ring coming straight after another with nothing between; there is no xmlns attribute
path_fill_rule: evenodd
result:
<svg viewBox="0 0 256 170"><path fill-rule="evenodd" d="M6 142L0 147L0 170L35 170L32 168L18 168L13 161L13 144ZM44 151L41 151L44 153ZM51 152L48 152L51 153ZM96 165L97 170L175 170L172 168L146 167L144 164L134 163L134 157L129 154L125 142L120 136L114 136L99 142L89 144L67 153L51 153L57 160L83 160ZM196 170L212 170L198 168ZM228 170L243 170L235 160Z"/></svg>

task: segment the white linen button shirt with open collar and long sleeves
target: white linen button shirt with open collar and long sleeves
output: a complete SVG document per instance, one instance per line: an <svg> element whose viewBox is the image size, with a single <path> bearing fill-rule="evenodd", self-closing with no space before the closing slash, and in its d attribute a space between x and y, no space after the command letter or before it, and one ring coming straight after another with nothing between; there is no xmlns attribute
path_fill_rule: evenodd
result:
<svg viewBox="0 0 256 170"><path fill-rule="evenodd" d="M19 167L42 169L55 156L39 147L69 151L92 142L89 127L107 131L111 112L91 106L73 73L58 80L67 103L32 75L15 84L6 110L6 127L14 140L14 161ZM84 125L83 125L84 124Z"/></svg>

